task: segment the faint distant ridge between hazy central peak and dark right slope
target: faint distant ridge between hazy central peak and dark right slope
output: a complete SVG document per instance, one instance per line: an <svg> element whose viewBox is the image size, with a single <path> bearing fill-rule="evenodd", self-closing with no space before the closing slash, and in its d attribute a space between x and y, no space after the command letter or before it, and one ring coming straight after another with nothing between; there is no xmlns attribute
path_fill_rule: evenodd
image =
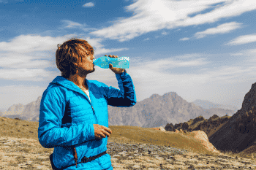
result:
<svg viewBox="0 0 256 170"><path fill-rule="evenodd" d="M225 105L225 104L214 104L210 101L206 101L206 100L195 100L192 103L194 103L195 105L202 107L203 109L211 109L211 108L219 108L219 109L228 109L228 110L233 110L234 113L236 113L238 111L238 109L236 107L233 107L231 105Z"/></svg>

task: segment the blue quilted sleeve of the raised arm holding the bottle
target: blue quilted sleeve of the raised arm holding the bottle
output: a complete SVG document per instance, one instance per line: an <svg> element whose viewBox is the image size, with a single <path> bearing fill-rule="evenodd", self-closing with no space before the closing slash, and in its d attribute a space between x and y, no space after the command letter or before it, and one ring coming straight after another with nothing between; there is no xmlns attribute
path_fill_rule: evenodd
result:
<svg viewBox="0 0 256 170"><path fill-rule="evenodd" d="M105 97L113 107L132 107L136 104L135 87L132 78L126 72L116 74L120 90L105 85Z"/></svg>

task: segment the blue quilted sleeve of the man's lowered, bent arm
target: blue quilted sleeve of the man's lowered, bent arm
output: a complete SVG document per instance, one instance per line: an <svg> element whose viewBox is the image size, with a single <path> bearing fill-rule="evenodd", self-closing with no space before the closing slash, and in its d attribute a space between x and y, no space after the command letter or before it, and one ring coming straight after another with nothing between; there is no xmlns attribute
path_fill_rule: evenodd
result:
<svg viewBox="0 0 256 170"><path fill-rule="evenodd" d="M72 124L61 128L65 101L60 90L45 90L39 113L38 138L42 147L70 147L95 139L93 124ZM86 129L86 131L85 131Z"/></svg>

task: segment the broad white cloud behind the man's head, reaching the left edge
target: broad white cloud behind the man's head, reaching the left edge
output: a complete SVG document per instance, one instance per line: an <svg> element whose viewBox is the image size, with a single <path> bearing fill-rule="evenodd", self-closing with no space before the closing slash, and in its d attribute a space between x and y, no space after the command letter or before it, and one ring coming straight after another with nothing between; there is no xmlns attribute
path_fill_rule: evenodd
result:
<svg viewBox="0 0 256 170"><path fill-rule="evenodd" d="M10 42L0 42L0 79L42 81L54 78L53 75L56 76L60 72L50 72L47 68L56 69L57 45L72 37L75 36L21 35L16 36ZM88 37L86 40L94 47L95 55L109 55L112 52L128 50L125 47L107 49L101 44L102 39Z"/></svg>

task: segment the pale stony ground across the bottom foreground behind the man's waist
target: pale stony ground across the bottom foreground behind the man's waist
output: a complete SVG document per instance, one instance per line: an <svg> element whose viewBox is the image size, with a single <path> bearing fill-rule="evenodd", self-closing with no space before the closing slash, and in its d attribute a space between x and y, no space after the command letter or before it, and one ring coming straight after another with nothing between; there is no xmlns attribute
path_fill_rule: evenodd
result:
<svg viewBox="0 0 256 170"><path fill-rule="evenodd" d="M256 169L256 161L202 155L155 144L108 142L113 169ZM35 139L0 137L0 169L51 169L49 155Z"/></svg>

